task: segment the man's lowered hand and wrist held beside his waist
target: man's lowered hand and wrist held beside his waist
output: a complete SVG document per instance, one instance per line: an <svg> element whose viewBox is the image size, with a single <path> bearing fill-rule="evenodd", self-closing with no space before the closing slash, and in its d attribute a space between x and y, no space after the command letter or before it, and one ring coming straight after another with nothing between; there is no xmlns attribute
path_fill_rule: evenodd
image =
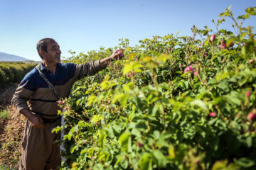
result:
<svg viewBox="0 0 256 170"><path fill-rule="evenodd" d="M43 125L43 119L40 118L38 115L33 115L31 111L29 111L28 108L23 108L20 111L21 114L25 115L26 118L28 118L29 123L31 123L31 126L34 128L46 128Z"/></svg>

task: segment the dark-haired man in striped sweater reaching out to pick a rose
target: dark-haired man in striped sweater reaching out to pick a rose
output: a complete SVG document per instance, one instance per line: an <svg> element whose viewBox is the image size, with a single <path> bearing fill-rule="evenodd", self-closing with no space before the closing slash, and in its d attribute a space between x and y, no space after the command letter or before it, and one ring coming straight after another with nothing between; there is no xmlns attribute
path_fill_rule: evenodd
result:
<svg viewBox="0 0 256 170"><path fill-rule="evenodd" d="M87 64L61 64L60 46L52 38L40 40L37 50L43 60L39 69L53 84L60 98L68 96L72 85L78 79L96 74L107 67L108 62L123 57L116 50L110 57ZM26 74L11 101L18 112L27 118L19 169L57 169L60 165L60 148L53 142L60 139L60 133L51 131L60 125L60 116L57 114L60 109L58 98L36 68Z"/></svg>

